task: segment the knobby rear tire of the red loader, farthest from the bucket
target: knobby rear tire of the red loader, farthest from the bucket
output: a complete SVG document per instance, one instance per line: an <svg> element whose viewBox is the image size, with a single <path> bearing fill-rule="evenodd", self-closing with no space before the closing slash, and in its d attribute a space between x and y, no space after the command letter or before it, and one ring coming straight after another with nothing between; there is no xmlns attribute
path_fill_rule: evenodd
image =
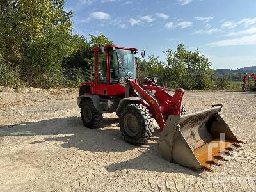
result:
<svg viewBox="0 0 256 192"><path fill-rule="evenodd" d="M102 123L102 113L95 109L92 100L87 99L81 103L81 118L85 127L96 129Z"/></svg>

